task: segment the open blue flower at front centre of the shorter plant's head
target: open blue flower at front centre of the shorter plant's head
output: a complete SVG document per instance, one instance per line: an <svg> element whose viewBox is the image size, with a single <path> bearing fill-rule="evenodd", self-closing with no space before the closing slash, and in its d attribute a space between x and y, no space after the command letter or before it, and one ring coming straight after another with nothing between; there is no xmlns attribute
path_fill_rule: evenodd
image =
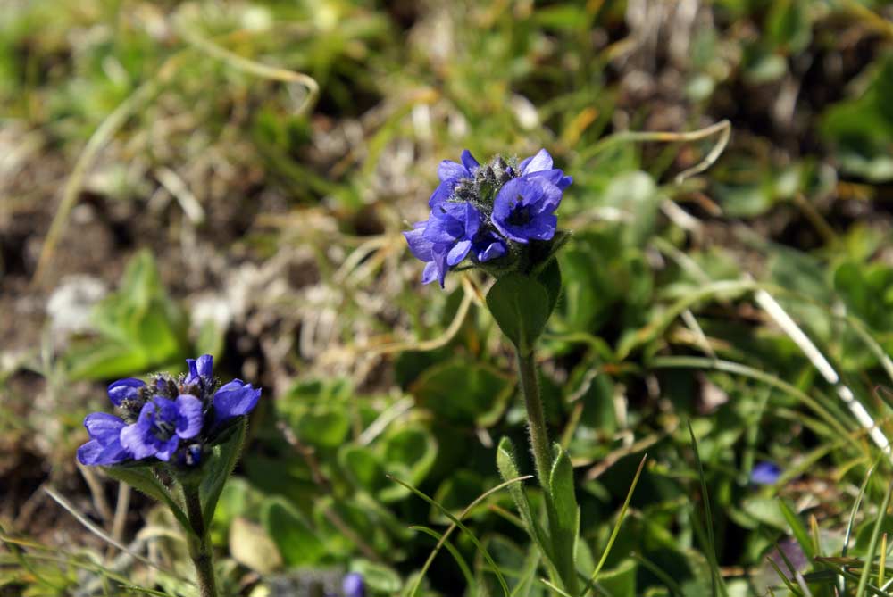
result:
<svg viewBox="0 0 893 597"><path fill-rule="evenodd" d="M143 405L136 423L121 429L121 445L135 460L154 456L171 460L181 439L201 433L204 413L196 396L181 394L177 400L155 396Z"/></svg>

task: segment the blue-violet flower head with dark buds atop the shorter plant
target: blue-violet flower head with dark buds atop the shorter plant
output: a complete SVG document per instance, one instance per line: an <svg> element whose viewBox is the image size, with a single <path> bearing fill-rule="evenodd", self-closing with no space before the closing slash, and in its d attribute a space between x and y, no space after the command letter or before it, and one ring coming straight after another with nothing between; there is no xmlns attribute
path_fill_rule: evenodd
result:
<svg viewBox="0 0 893 597"><path fill-rule="evenodd" d="M150 384L129 377L110 385L109 399L121 417L88 414L84 427L90 441L79 447L78 460L104 466L146 458L198 464L204 446L230 419L251 412L261 390L239 379L219 387L210 354L186 362L186 375L163 373Z"/></svg>

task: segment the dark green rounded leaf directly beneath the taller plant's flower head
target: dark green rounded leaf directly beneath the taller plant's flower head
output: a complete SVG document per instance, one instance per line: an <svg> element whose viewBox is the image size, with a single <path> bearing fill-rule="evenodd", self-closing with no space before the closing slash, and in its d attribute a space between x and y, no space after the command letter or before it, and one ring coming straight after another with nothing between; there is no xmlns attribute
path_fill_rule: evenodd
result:
<svg viewBox="0 0 893 597"><path fill-rule="evenodd" d="M546 287L518 273L499 278L487 293L487 306L493 319L522 354L530 354L546 328L549 305Z"/></svg>

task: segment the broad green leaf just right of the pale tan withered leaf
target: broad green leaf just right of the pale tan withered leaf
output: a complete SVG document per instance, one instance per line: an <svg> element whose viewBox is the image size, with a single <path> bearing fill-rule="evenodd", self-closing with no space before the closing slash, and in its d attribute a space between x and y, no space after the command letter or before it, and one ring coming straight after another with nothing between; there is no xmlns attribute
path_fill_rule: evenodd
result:
<svg viewBox="0 0 893 597"><path fill-rule="evenodd" d="M325 545L288 502L272 498L263 505L263 527L290 567L312 566L326 555Z"/></svg>

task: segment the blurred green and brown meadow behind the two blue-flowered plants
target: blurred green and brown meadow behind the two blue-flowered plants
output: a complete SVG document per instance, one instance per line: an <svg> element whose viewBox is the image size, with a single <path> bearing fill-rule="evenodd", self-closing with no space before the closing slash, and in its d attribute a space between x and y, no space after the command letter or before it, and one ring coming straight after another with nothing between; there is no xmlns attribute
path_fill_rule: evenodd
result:
<svg viewBox="0 0 893 597"><path fill-rule="evenodd" d="M539 147L575 179L540 352L583 568L647 452L602 594L711 594L713 553L731 595L806 594L767 563L776 543L813 594L855 594L811 559L850 531L864 557L891 470L891 17L870 0L2 0L0 595L189 594L171 521L74 451L104 384L202 352L264 388L213 528L226 590L311 594L350 569L409 594L437 543L412 526L448 520L386 473L458 513L524 430L487 281L421 286L400 231L440 160ZM778 483L751 482L761 461ZM512 511L494 493L468 529L513 594L546 595ZM482 553L453 535L417 594L503 594Z"/></svg>

